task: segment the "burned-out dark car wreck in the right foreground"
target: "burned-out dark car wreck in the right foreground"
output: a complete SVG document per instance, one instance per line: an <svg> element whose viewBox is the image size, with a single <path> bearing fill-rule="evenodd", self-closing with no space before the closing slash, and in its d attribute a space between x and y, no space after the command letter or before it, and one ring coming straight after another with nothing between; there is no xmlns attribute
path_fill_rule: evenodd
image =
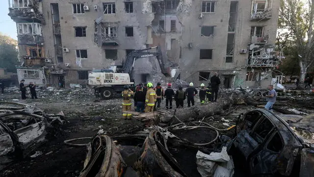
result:
<svg viewBox="0 0 314 177"><path fill-rule="evenodd" d="M311 142L280 115L255 109L241 117L228 153L235 159L235 173L240 169L252 176L313 177Z"/></svg>

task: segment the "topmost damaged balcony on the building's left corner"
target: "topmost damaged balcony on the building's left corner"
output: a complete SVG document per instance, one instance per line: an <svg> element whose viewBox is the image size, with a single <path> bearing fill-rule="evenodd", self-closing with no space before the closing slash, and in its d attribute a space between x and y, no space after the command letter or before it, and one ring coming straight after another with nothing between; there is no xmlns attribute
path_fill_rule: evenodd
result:
<svg viewBox="0 0 314 177"><path fill-rule="evenodd" d="M38 22L41 24L45 23L44 16L37 9L30 7L16 8L10 7L9 14L12 20L15 22L19 22L19 20L34 20L34 22Z"/></svg>

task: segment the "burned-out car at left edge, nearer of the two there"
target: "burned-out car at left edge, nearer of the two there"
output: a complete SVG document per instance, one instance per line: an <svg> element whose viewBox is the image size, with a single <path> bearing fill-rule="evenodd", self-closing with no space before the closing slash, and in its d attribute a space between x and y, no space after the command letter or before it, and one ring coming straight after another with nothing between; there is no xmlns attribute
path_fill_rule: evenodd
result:
<svg viewBox="0 0 314 177"><path fill-rule="evenodd" d="M62 124L58 119L53 119L52 122ZM36 114L0 110L0 170L14 159L24 158L42 145L48 135L54 133L49 129L52 122Z"/></svg>

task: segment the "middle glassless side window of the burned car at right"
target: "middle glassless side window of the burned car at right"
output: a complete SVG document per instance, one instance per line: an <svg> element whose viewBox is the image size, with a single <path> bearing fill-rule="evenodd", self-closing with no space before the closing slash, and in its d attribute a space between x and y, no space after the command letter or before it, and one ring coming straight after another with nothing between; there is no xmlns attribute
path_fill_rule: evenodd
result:
<svg viewBox="0 0 314 177"><path fill-rule="evenodd" d="M268 133L273 129L273 124L270 122L268 118L265 118L262 120L261 123L259 123L254 130L254 136L253 138L256 139L257 142L262 143L262 141L266 138Z"/></svg>

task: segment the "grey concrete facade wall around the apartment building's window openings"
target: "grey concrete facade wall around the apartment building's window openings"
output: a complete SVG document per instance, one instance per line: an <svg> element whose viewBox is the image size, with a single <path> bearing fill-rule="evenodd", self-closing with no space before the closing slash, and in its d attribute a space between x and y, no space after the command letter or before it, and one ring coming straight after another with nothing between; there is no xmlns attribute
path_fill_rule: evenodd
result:
<svg viewBox="0 0 314 177"><path fill-rule="evenodd" d="M279 1L265 1L268 4L265 5L265 10L271 9L270 18L252 20L252 10L255 7L253 4L256 0L211 1L214 2L215 8L212 12L202 12L202 3L210 2L202 0L130 0L125 2L117 0L42 0L39 2L33 0L34 3L40 4L38 9L45 22L42 23L43 46L45 58L51 59L51 63L46 64L51 64L50 84L54 86L60 82L60 73L62 77L64 76L63 82L66 86L81 84L86 81L86 77L79 77L78 71L122 65L127 50L159 46L165 65L177 69L180 73L178 72L176 76L180 74L180 79L193 82L195 86L198 86L208 82L200 79L199 72L210 73L209 76L213 72L218 72L222 83L229 83L226 87L238 85L264 87L271 80L271 77L263 77L267 75L267 72L269 75L271 70L248 67L249 52L240 54L241 49L248 49L248 46L252 44L250 33L251 27L254 26L263 27L263 35L268 35L267 44L275 43ZM132 2L132 13L127 13L125 10L125 3L128 2ZM230 6L235 2L237 4L235 30L228 31ZM104 4L113 3L115 13L104 13L104 8L109 7ZM83 4L88 6L89 10L76 14L73 4ZM58 7L57 14L53 10L56 6ZM94 9L94 7L97 8ZM54 29L55 24L59 24L60 27L58 35ZM104 28L113 26L116 36L104 37ZM201 36L202 26L213 26L213 34ZM86 36L76 37L75 27L84 27ZM126 27L133 27L133 36L126 35ZM232 62L230 60L226 62L228 33L233 33L235 36ZM56 48L58 50L66 48L68 51L58 54ZM211 59L200 59L200 49L212 49ZM21 47L20 50L24 49ZM87 59L77 59L76 50L87 50ZM107 58L105 51L108 50L116 50L117 56L114 59ZM20 51L20 53L26 52ZM247 72L252 69L253 72L259 72L258 80L246 81ZM155 72L159 70L154 59L136 60L135 82L145 82L140 75L154 74L151 70L156 70ZM150 80L152 77L148 76L147 79Z"/></svg>

